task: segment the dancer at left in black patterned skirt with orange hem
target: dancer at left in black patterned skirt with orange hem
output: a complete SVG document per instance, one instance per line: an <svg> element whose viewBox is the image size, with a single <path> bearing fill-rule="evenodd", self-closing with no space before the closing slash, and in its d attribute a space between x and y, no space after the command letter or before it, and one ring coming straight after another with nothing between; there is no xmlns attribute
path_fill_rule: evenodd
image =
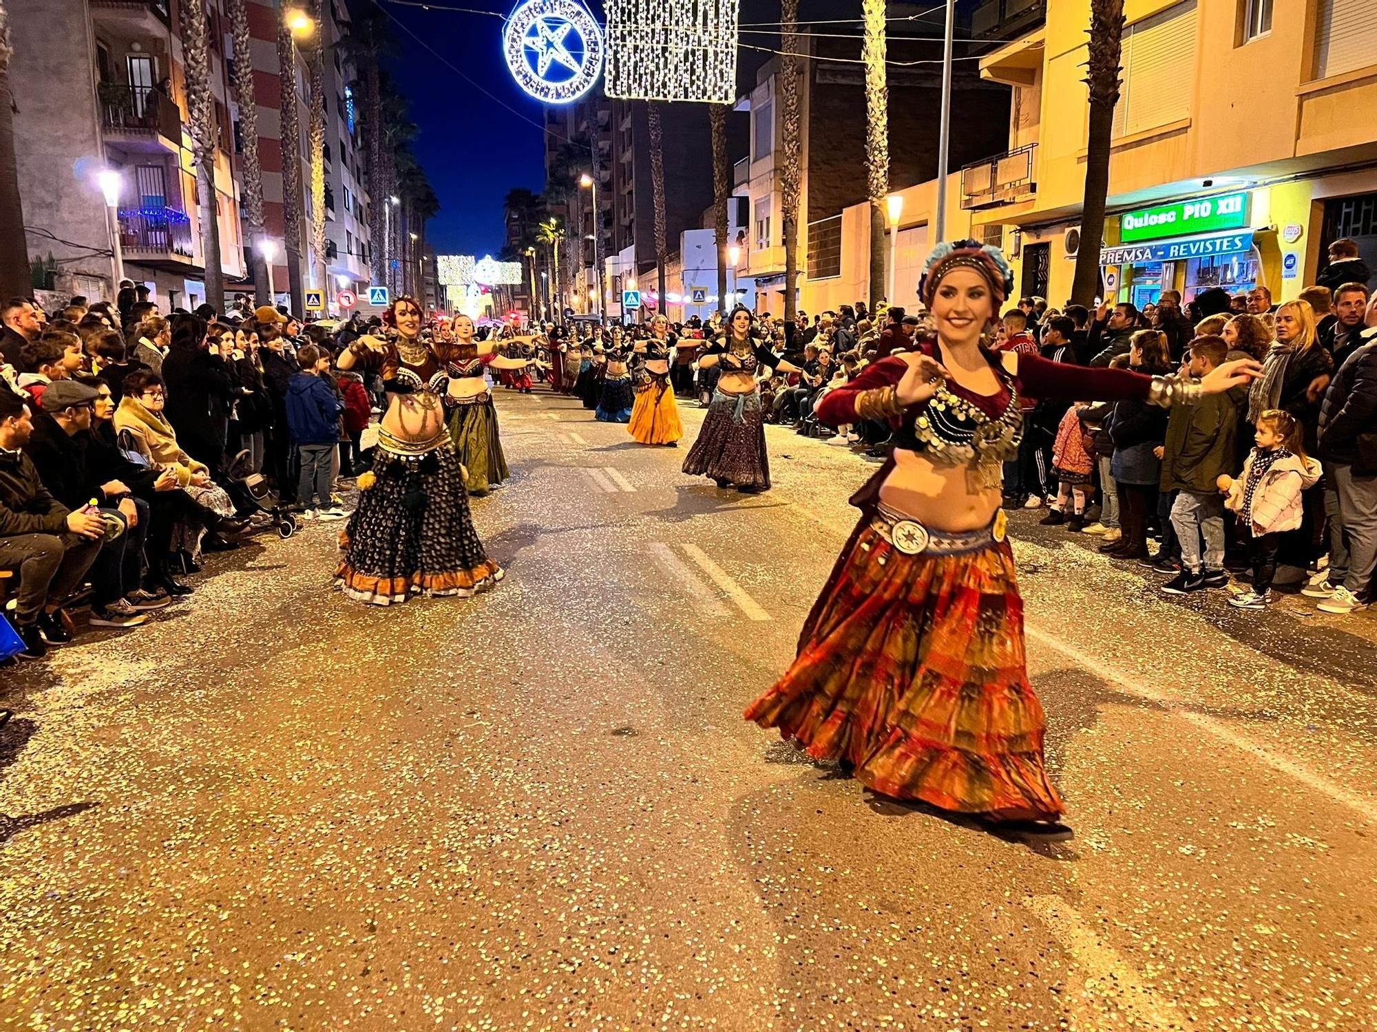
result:
<svg viewBox="0 0 1377 1032"><path fill-rule="evenodd" d="M381 373L388 406L373 468L358 477L358 508L340 535L336 583L376 605L410 594L468 597L497 583L503 570L474 530L463 466L445 428L450 345L437 344L437 354L420 341L421 308L412 297L398 297L384 318L397 330L395 344L359 337L337 359L344 370Z"/></svg>

